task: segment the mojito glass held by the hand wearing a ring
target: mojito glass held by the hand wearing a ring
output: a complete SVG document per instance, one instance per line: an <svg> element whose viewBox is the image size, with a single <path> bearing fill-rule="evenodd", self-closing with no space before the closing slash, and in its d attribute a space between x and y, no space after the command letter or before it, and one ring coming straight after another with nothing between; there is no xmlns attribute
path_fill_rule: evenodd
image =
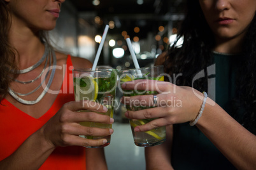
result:
<svg viewBox="0 0 256 170"><path fill-rule="evenodd" d="M127 81L135 81L136 79L153 79L157 81L164 81L163 66L144 67L141 69L121 70L120 84ZM136 86L135 86L136 87ZM156 91L141 91L141 90L123 90L124 96L137 95L157 95ZM124 101L125 103L125 101ZM136 103L136 104L135 104ZM134 102L133 105L125 105L127 110L137 111L146 108L155 107L153 102L147 106L141 105L139 102ZM145 132L134 132L136 126L146 124L153 119L129 119L132 135L135 145L139 147L152 147L162 144L166 140L166 127L155 128Z"/></svg>

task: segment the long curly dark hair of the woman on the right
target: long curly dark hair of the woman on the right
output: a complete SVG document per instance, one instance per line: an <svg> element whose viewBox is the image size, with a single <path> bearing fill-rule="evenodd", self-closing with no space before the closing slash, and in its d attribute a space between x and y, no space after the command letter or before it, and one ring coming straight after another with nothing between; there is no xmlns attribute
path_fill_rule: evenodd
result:
<svg viewBox="0 0 256 170"><path fill-rule="evenodd" d="M199 1L187 1L187 15L181 23L177 40L167 50L164 62L167 74L182 73L176 81L177 85L193 86L199 91L208 91L208 77L192 84L192 77L204 70L212 62L212 49L215 46L213 32L206 22ZM181 47L176 46L183 38ZM239 121L246 129L256 133L256 16L250 24L243 43L243 60L239 68L236 98L232 99L232 110L243 111L243 120ZM243 109L241 109L243 108ZM234 119L238 117L234 111Z"/></svg>

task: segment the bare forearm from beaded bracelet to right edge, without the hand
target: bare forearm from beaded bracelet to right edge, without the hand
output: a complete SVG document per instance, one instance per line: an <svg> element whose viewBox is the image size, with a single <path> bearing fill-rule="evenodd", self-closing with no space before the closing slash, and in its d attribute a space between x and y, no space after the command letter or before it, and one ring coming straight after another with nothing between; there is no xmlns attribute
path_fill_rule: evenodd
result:
<svg viewBox="0 0 256 170"><path fill-rule="evenodd" d="M256 169L256 136L221 107L207 105L196 126L238 169Z"/></svg>

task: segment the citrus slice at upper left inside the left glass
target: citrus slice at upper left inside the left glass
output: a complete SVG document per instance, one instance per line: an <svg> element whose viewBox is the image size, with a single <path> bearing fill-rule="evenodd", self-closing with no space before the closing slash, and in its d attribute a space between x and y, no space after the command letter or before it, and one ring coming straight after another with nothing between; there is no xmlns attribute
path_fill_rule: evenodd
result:
<svg viewBox="0 0 256 170"><path fill-rule="evenodd" d="M79 84L76 84L76 91L80 90L80 100L83 100L84 98L87 98L88 100L96 100L97 95L99 93L99 86L96 82L96 79L93 77L83 77L79 81ZM78 93L76 92L76 95Z"/></svg>

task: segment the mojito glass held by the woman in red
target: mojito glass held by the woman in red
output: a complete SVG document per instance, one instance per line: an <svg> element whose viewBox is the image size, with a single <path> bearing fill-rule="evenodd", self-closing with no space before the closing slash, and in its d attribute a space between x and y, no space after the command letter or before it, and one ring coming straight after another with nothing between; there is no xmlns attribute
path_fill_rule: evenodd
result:
<svg viewBox="0 0 256 170"><path fill-rule="evenodd" d="M74 69L73 81L74 81L74 93L76 101L85 101L87 105L94 105L94 102L101 103L108 112L100 113L108 115L113 118L113 110L115 107L115 92L117 88L117 70L115 69ZM79 112L90 112L90 110L80 110ZM82 126L94 127L94 128L111 128L112 124L103 124L99 122L80 122ZM110 145L111 136L85 136L80 135L82 138L97 140L106 138L107 143L99 147L106 147ZM99 148L89 147L89 148Z"/></svg>

